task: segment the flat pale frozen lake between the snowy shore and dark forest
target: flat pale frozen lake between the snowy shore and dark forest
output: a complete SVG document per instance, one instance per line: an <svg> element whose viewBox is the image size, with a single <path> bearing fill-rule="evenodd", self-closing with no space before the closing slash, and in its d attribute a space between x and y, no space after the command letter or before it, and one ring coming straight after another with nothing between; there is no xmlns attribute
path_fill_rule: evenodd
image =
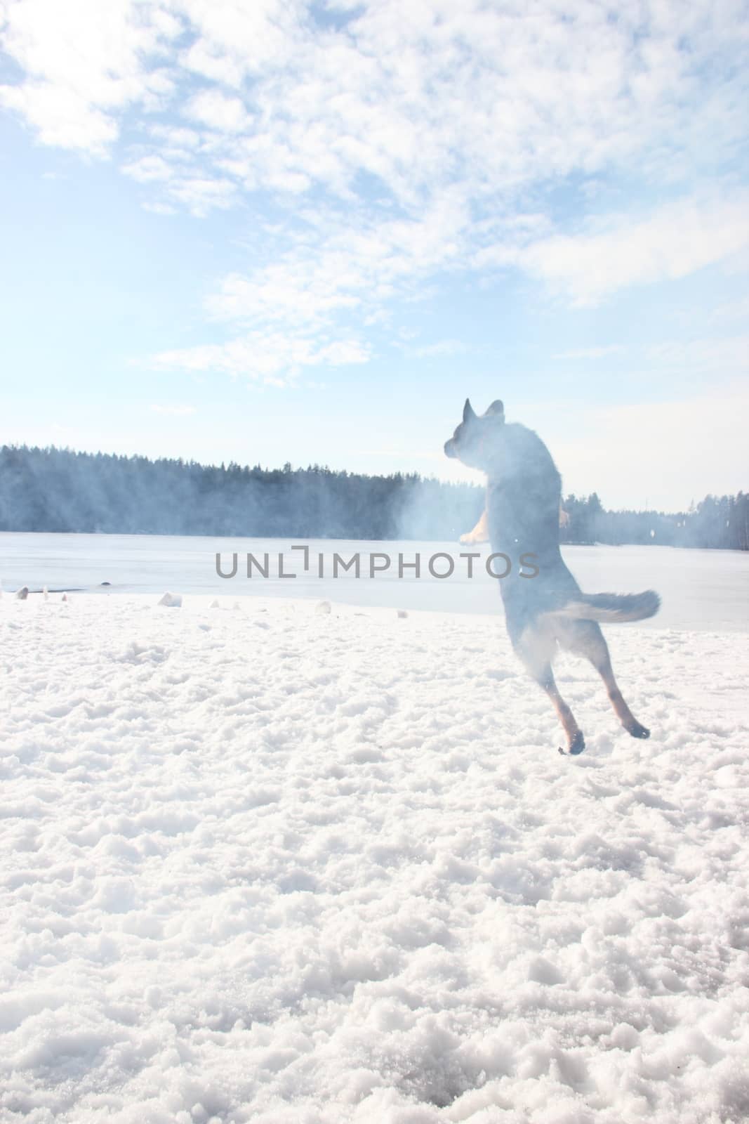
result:
<svg viewBox="0 0 749 1124"><path fill-rule="evenodd" d="M170 589L223 597L327 598L349 605L448 613L500 610L499 581L485 569L487 546L481 549L482 558L474 561L469 578L468 562L460 554L478 547L457 543L299 541L298 545L302 544L309 547L307 571L303 552L291 550L292 540L0 533L0 580L6 591L24 584L38 590L46 586L99 593L162 593ZM440 552L453 560L450 577L435 578L429 572L429 560ZM232 555L237 554L234 578L217 574L217 553L225 573L231 572ZM254 568L247 578L248 553L262 565L268 555L267 578ZM334 578L335 553L346 562L358 554L360 577L339 566ZM293 577L280 575L280 554L283 573ZM387 555L390 564L371 578L371 556L375 554ZM407 564L402 578L399 554ZM417 554L419 578L408 569ZM657 590L663 599L660 613L637 627L749 632L749 554L667 546L566 546L564 555L586 592ZM384 566L385 561L378 558L374 564ZM440 558L433 565L441 573L450 561ZM495 566L502 572L501 561Z"/></svg>

